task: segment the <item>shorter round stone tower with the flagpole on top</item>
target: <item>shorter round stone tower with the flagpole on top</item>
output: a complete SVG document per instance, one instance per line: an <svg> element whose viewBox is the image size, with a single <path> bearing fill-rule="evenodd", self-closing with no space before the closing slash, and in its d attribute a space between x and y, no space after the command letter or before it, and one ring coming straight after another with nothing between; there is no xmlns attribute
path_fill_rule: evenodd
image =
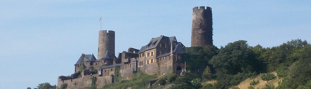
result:
<svg viewBox="0 0 311 89"><path fill-rule="evenodd" d="M101 30L99 31L97 59L101 59L107 50L109 56L114 58L114 31L108 31L107 33L107 30Z"/></svg>

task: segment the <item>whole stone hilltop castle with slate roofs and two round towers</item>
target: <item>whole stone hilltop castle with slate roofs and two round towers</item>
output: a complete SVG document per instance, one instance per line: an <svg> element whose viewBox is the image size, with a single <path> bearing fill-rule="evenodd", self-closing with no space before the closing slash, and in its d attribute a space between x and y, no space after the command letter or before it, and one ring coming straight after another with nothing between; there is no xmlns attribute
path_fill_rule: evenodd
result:
<svg viewBox="0 0 311 89"><path fill-rule="evenodd" d="M191 46L213 45L211 7L194 7ZM90 87L91 78L96 77L97 87L114 83L116 76L128 79L138 70L145 74L180 74L184 68L181 54L185 46L175 36L152 38L141 49L129 48L115 56L115 32L99 31L98 56L81 54L71 76L59 76L57 85L68 84L69 89ZM198 55L191 53L192 55Z"/></svg>

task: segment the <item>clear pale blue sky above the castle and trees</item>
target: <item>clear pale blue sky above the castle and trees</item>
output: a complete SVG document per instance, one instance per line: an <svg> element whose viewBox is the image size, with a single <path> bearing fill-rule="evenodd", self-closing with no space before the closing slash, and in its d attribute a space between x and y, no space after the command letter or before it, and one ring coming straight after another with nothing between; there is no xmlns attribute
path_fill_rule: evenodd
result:
<svg viewBox="0 0 311 89"><path fill-rule="evenodd" d="M212 8L217 47L237 40L263 47L311 41L310 0L2 0L0 89L54 85L74 73L82 53L97 57L100 17L103 30L115 31L116 54L160 35L189 47L195 6Z"/></svg>

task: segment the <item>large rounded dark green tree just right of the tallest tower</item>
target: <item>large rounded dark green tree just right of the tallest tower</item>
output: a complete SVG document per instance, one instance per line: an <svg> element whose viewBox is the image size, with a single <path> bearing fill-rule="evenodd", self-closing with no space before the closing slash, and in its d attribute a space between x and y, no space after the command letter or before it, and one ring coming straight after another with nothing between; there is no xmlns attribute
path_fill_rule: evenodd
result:
<svg viewBox="0 0 311 89"><path fill-rule="evenodd" d="M258 71L261 67L255 58L255 53L248 46L247 41L239 40L221 47L218 55L214 56L209 63L214 68L223 68L229 74L237 74L246 71Z"/></svg>

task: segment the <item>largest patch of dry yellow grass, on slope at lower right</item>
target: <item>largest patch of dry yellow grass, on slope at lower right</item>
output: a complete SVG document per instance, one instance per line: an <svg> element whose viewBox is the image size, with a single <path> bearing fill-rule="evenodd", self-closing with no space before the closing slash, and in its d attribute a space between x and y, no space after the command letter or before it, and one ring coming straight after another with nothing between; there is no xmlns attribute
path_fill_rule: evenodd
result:
<svg viewBox="0 0 311 89"><path fill-rule="evenodd" d="M276 76L276 72L272 72L272 74L274 74ZM249 84L251 81L259 80L259 83L256 84L254 87L255 87L255 89L257 89L257 88L261 89L262 87L264 87L267 84L267 81L261 80L262 75L263 74L259 74L259 75L255 76L254 78L251 78L251 79L247 78L244 81L242 81L239 85L237 85L236 87L239 87L240 89L248 89L248 87L251 86ZM278 84L279 81L282 81L282 79L277 77L276 79L269 81L269 84L273 84L275 87L277 87L277 86L279 86L279 84Z"/></svg>

